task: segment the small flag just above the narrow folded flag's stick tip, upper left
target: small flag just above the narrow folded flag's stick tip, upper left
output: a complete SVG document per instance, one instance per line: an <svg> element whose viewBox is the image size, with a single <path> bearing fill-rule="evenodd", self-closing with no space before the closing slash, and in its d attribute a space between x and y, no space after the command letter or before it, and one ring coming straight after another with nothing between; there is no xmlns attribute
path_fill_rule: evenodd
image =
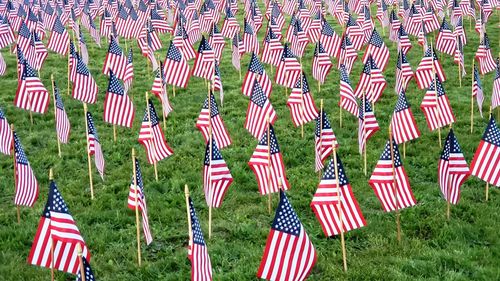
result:
<svg viewBox="0 0 500 281"><path fill-rule="evenodd" d="M95 103L97 101L97 83L87 67L87 65L76 54L76 67L74 73L72 97L84 103Z"/></svg>

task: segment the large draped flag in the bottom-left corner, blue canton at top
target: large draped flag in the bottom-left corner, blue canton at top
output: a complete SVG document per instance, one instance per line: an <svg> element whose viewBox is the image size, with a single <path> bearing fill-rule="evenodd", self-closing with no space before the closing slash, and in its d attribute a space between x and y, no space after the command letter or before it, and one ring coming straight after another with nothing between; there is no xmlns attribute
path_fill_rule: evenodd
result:
<svg viewBox="0 0 500 281"><path fill-rule="evenodd" d="M82 249L82 257L90 261L90 252L68 205L56 183L51 180L49 196L38 222L28 263L46 268L54 267L76 275L80 271L77 244Z"/></svg>

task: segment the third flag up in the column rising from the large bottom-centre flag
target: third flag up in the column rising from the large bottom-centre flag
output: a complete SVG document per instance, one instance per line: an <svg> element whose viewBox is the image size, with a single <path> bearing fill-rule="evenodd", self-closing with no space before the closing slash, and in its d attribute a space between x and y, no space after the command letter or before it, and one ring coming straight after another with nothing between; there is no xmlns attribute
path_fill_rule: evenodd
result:
<svg viewBox="0 0 500 281"><path fill-rule="evenodd" d="M266 130L267 117L269 117L269 122L274 124L277 119L276 111L271 101L266 97L260 83L255 80L252 94L250 95L250 102L248 104L245 129L247 129L254 138L260 138Z"/></svg>

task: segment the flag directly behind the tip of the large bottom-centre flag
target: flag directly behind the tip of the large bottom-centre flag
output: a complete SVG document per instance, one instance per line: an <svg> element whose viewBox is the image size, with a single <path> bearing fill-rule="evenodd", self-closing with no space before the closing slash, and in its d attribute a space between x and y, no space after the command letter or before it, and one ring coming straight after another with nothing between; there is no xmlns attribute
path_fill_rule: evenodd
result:
<svg viewBox="0 0 500 281"><path fill-rule="evenodd" d="M270 130L266 129L262 134L252 157L248 161L250 169L257 178L261 195L278 192L280 186L283 190L290 188L274 128L272 125L269 125L269 128Z"/></svg>

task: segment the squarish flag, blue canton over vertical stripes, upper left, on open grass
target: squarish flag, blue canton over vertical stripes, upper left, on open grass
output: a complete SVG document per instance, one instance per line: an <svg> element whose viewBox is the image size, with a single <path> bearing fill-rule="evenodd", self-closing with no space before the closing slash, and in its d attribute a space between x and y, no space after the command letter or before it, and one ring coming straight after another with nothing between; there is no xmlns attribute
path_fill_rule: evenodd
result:
<svg viewBox="0 0 500 281"><path fill-rule="evenodd" d="M113 125L132 128L135 110L132 100L125 93L122 83L109 71L109 84L104 99L104 121Z"/></svg>

